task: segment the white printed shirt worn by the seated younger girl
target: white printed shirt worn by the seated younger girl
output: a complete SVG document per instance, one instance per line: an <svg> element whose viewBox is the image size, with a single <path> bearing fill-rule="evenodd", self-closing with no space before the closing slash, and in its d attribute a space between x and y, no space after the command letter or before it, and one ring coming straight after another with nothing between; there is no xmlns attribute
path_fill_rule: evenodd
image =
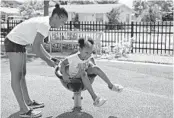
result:
<svg viewBox="0 0 174 118"><path fill-rule="evenodd" d="M88 60L81 60L78 56L79 52L70 55L69 57L67 57L68 62L69 62L69 75L71 78L73 78L74 76L77 75L78 71L79 71L79 64L84 64L84 69L86 70L89 66L89 61L92 58L92 56L90 58L88 58Z"/></svg>

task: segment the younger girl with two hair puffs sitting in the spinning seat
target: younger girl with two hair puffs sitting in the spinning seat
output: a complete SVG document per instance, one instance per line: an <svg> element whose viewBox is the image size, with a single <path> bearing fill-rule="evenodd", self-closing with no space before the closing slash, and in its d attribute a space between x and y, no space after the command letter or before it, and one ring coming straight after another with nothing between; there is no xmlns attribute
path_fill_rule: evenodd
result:
<svg viewBox="0 0 174 118"><path fill-rule="evenodd" d="M70 79L81 78L85 88L90 93L94 106L100 107L106 99L97 96L91 86L88 75L98 75L108 84L108 88L113 91L120 92L123 87L121 85L112 84L106 74L95 64L92 52L94 49L94 41L91 38L78 40L79 51L76 54L70 55L60 64L60 71L65 82L70 82Z"/></svg>

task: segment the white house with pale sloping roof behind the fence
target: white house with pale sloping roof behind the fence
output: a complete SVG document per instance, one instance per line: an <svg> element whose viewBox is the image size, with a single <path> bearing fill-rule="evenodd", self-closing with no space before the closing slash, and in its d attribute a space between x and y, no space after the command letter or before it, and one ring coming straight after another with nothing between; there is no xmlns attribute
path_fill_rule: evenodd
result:
<svg viewBox="0 0 174 118"><path fill-rule="evenodd" d="M124 4L87 4L87 5L61 5L68 12L68 20L71 21L75 14L79 15L79 21L100 21L107 22L107 13L113 8L120 9L120 22L131 22L131 16L134 11ZM51 15L54 7L49 8Z"/></svg>

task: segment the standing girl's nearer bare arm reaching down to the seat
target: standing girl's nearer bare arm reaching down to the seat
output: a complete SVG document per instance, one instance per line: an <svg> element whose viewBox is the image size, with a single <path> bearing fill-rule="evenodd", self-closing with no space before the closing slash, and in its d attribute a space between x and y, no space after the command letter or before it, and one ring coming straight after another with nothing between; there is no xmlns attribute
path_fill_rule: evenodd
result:
<svg viewBox="0 0 174 118"><path fill-rule="evenodd" d="M49 66L54 67L55 63L51 60L51 56L43 47L43 40L44 36L38 32L33 42L33 52L36 56L46 61Z"/></svg>

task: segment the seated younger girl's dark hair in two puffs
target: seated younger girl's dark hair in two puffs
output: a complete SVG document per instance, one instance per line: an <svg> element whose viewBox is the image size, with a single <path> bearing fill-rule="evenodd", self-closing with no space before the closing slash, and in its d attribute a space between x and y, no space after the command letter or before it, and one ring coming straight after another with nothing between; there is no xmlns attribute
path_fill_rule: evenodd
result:
<svg viewBox="0 0 174 118"><path fill-rule="evenodd" d="M88 38L87 40L80 38L78 44L80 48L90 47L91 45L94 45L94 40L92 38Z"/></svg>

